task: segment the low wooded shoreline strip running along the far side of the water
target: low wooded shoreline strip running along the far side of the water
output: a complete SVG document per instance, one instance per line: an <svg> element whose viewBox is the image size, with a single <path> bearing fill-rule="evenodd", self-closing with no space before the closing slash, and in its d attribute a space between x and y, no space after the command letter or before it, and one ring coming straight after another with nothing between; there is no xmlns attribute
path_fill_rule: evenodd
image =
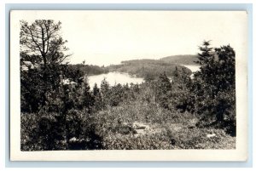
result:
<svg viewBox="0 0 256 171"><path fill-rule="evenodd" d="M161 73L166 73L168 77L173 76L173 71L185 71L191 74L191 71L174 63L166 62L165 60L126 60L119 65L110 66L94 66L85 64L67 65L66 77L73 77L74 71L79 71L85 75L99 75L108 73L109 71L118 71L129 73L135 77L158 77Z"/></svg>

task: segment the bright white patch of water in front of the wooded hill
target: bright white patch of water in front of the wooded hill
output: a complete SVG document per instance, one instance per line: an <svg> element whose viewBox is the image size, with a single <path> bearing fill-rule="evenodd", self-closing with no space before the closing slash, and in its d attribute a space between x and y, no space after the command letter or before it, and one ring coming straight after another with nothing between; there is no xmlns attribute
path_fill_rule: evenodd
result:
<svg viewBox="0 0 256 171"><path fill-rule="evenodd" d="M106 78L107 82L113 86L114 84L130 84L130 83L143 83L142 77L131 77L127 73L120 72L108 72L106 74L89 76L88 81L90 84L90 88L94 87L94 84L97 84L97 87L101 87L102 80Z"/></svg>

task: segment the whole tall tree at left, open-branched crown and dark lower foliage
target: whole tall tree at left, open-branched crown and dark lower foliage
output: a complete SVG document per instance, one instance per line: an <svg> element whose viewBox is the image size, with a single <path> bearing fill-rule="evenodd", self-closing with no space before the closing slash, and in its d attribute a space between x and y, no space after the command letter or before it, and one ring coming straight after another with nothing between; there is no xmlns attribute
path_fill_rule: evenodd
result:
<svg viewBox="0 0 256 171"><path fill-rule="evenodd" d="M25 20L20 21L20 66L30 65L27 71L20 67L21 97L25 101L34 98L32 101L39 107L33 111L44 107L46 93L60 85L61 70L65 67L62 64L69 56L64 54L68 50L67 41L63 40L60 31L60 21L35 20L31 25ZM29 85L25 85L27 83Z"/></svg>

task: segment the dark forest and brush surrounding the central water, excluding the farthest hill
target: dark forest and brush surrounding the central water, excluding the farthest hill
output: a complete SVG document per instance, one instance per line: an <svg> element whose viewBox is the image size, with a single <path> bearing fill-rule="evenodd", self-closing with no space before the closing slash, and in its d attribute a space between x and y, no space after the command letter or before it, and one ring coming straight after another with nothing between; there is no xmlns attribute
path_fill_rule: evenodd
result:
<svg viewBox="0 0 256 171"><path fill-rule="evenodd" d="M60 31L60 21L20 21L21 151L236 148L236 53L230 45L199 45L201 70L192 79L189 69L155 60L69 65ZM90 88L88 75L113 68L144 82L111 86L103 79ZM67 78L72 83L64 83Z"/></svg>

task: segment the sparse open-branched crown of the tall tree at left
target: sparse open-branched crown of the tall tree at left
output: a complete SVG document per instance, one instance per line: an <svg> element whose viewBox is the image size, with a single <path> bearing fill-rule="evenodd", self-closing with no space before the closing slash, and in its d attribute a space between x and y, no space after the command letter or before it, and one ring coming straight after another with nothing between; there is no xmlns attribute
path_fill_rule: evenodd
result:
<svg viewBox="0 0 256 171"><path fill-rule="evenodd" d="M54 20L35 20L32 25L20 21L20 54L33 66L43 66L44 70L51 64L61 64L69 55L63 52L67 40L60 35L61 22Z"/></svg>

